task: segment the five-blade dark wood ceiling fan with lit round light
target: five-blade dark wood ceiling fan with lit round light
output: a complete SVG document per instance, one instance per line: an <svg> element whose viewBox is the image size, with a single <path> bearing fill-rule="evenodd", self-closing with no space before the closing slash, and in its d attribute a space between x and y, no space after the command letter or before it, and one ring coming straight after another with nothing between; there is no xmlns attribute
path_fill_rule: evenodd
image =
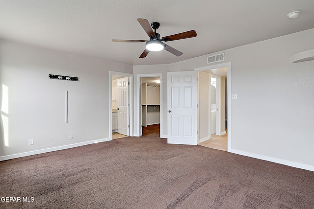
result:
<svg viewBox="0 0 314 209"><path fill-rule="evenodd" d="M168 42L168 41L174 41L174 40L179 40L179 39L187 39L187 38L196 37L195 30L190 30L190 31L186 31L183 33L178 33L178 34L174 34L174 35L165 36L165 37L160 38L160 34L156 32L156 30L160 26L160 23L154 22L154 23L150 24L148 22L148 20L141 19L141 18L137 19L137 21L138 21L138 23L140 23L140 25L143 27L143 29L145 30L145 32L149 36L149 41L146 41L146 40L117 40L117 39L112 39L112 41L113 42L130 42L130 43L146 42L145 50L143 51L141 56L139 56L139 58L146 57L150 51L160 51L162 49L165 49L165 50L169 51L170 53L179 57L183 54L183 52L181 52L181 51L179 51L179 50L177 50L177 49L175 49L169 45L166 45L162 41ZM153 29L155 30L155 32L153 31Z"/></svg>

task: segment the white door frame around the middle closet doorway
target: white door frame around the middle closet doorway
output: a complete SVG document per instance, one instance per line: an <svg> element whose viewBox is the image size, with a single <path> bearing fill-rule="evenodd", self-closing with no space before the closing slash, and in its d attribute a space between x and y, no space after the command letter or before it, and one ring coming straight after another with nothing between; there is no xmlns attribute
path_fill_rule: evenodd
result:
<svg viewBox="0 0 314 209"><path fill-rule="evenodd" d="M136 75L136 111L138 114L136 114L136 127L138 127L138 136L142 136L142 127L141 127L141 121L142 121L142 105L141 105L141 78L147 78L147 77L159 77L160 78L160 138L167 138L167 136L163 135L163 97L162 97L162 91L163 91L163 82L162 82L162 73L150 73L150 74L137 74ZM135 136L135 135L134 135Z"/></svg>

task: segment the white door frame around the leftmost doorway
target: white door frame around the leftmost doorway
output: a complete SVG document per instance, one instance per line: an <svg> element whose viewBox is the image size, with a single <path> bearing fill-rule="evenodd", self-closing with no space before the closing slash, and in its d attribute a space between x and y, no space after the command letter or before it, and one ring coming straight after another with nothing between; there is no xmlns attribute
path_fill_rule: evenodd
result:
<svg viewBox="0 0 314 209"><path fill-rule="evenodd" d="M112 140L112 75L118 75L118 76L124 76L124 77L129 77L129 136L133 136L133 74L131 73L125 73L125 72L117 72L117 71L110 71L109 70L109 88L108 88L108 102L109 102L109 139Z"/></svg>

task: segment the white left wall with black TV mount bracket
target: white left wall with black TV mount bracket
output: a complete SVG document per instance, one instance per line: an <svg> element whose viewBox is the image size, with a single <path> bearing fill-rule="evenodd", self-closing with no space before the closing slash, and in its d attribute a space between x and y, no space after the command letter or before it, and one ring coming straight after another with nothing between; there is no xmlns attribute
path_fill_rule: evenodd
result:
<svg viewBox="0 0 314 209"><path fill-rule="evenodd" d="M2 85L8 87L8 113L1 111L8 126L1 120L0 159L109 139L109 70L132 73L132 66L0 40L0 101ZM74 76L79 81L49 79L49 74ZM34 144L28 145L28 139Z"/></svg>

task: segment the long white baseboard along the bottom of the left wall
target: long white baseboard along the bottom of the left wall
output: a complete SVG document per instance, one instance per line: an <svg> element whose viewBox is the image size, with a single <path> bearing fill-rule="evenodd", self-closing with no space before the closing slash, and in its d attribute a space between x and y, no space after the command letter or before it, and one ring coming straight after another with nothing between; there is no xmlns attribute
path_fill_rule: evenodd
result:
<svg viewBox="0 0 314 209"><path fill-rule="evenodd" d="M52 148L47 148L47 149L40 149L40 150L35 150L35 151L30 151L30 152L23 152L23 153L18 153L18 154L13 154L13 155L5 155L5 156L0 156L0 161L6 161L14 158L21 158L21 157L26 157L30 155L37 155L37 154L42 154L46 152L53 152L53 151L58 151L62 149L69 149L69 148L74 148L78 146L83 146L87 144L93 144L93 143L98 143L98 142L104 142L104 141L110 141L112 139L106 138L106 139L97 139L97 140L92 140L92 141L84 141L84 142L79 142L75 144L68 144L68 145L63 145L63 146L57 146L57 147L52 147Z"/></svg>

